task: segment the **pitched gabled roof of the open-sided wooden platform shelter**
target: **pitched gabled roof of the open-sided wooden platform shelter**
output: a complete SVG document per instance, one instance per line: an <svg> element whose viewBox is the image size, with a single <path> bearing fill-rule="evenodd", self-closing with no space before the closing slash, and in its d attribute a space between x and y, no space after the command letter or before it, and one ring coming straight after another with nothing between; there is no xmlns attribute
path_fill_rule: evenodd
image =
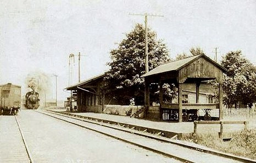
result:
<svg viewBox="0 0 256 163"><path fill-rule="evenodd" d="M169 72L169 71L178 71L179 69L185 67L186 65L190 64L191 62L197 60L199 57L205 57L205 59L212 62L215 66L219 67L222 71L224 71L224 72L226 71L226 69L224 67L222 67L221 65L219 65L219 63L210 59L208 56L201 54L201 55L194 55L194 56L186 57L185 59L165 63L163 65L160 65L160 66L152 69L148 73L142 75L142 77L147 77L150 75L160 74L160 73Z"/></svg>

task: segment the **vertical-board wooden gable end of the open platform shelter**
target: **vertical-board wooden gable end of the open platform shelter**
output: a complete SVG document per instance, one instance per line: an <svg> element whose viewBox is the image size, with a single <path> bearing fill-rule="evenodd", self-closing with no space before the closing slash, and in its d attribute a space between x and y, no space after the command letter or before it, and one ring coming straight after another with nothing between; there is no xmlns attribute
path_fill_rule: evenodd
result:
<svg viewBox="0 0 256 163"><path fill-rule="evenodd" d="M217 79L222 81L222 71L203 57L198 58L179 71L179 83L184 83L187 78Z"/></svg>

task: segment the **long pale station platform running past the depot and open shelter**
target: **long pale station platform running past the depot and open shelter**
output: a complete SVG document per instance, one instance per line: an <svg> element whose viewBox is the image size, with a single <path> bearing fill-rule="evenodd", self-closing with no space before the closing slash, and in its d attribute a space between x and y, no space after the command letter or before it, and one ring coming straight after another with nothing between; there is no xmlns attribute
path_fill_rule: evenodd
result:
<svg viewBox="0 0 256 163"><path fill-rule="evenodd" d="M80 117L86 117L97 120L104 121L112 121L115 123L125 124L129 126L142 127L143 129L148 129L151 131L163 132L167 133L165 136L172 137L177 135L178 137L182 137L182 135L188 135L193 133L194 131L194 123L193 122L170 122L170 121L152 121L146 119L138 119L138 118L130 118L128 116L122 115L112 115L112 114L104 114L104 113L77 113L77 112L66 112L65 109L48 109L54 112L60 112L63 114L75 114ZM244 129L244 125L242 124L227 124L224 125L224 133L226 133L226 137L230 137L231 133L239 132ZM256 121L248 121L247 129L256 129ZM219 124L201 124L197 126L197 133L201 134L214 134L218 135L220 132Z"/></svg>

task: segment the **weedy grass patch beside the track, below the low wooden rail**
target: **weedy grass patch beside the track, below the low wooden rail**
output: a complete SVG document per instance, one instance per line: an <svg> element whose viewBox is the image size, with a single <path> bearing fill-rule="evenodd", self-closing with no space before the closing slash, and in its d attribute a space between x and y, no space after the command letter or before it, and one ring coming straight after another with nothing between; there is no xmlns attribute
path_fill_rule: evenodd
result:
<svg viewBox="0 0 256 163"><path fill-rule="evenodd" d="M183 140L204 145L206 147L219 150L225 153L231 153L237 156L243 156L250 159L256 159L256 130L243 130L232 135L231 141L224 142L218 137L210 134L199 135L190 134L183 137Z"/></svg>

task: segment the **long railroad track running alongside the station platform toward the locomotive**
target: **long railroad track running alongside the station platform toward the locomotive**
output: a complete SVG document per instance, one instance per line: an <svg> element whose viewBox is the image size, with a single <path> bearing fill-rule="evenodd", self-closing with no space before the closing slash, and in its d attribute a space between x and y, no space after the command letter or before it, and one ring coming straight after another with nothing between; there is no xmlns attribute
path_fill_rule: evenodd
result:
<svg viewBox="0 0 256 163"><path fill-rule="evenodd" d="M75 117L76 115L63 115L49 110L47 112L35 111L66 121L67 123L102 133L152 152L175 158L182 162L210 162L210 160L214 162L255 162L255 160L248 158L221 153L212 149L196 147L170 138L155 136L146 131L136 131L127 128L127 126L111 125L106 123L106 121L103 123L103 121L94 121L80 116L77 118Z"/></svg>

